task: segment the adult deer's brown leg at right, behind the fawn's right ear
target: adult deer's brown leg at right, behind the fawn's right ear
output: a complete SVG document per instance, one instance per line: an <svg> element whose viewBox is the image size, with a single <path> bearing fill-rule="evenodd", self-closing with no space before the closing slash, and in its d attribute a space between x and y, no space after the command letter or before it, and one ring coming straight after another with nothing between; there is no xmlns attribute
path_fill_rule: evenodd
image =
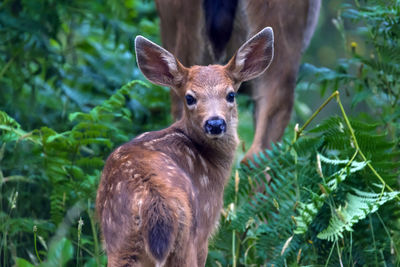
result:
<svg viewBox="0 0 400 267"><path fill-rule="evenodd" d="M255 136L244 160L270 148L283 135L293 107L301 54L315 28L318 11L319 0L246 1L251 32L265 26L274 29L275 53L268 72L253 84Z"/></svg>

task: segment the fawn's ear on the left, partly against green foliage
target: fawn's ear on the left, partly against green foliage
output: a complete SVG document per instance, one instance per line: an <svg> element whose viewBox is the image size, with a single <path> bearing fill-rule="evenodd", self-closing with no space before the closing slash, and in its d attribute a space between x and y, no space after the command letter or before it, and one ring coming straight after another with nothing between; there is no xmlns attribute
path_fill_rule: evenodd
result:
<svg viewBox="0 0 400 267"><path fill-rule="evenodd" d="M174 90L180 87L187 69L170 52L140 35L135 39L135 51L139 69L150 82Z"/></svg>

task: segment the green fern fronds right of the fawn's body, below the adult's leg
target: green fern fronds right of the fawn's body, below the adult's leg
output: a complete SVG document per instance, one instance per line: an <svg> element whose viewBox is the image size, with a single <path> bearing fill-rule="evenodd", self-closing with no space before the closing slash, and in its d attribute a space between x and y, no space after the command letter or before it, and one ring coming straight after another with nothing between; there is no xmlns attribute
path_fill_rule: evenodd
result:
<svg viewBox="0 0 400 267"><path fill-rule="evenodd" d="M385 255L380 261L399 264L400 243L392 233L400 226L400 213L393 212L399 208L400 192L387 192L367 165L397 166L380 169L386 183L397 186L398 150L374 135L377 126L358 121L351 126L362 152L371 155L367 161L351 146L345 120L334 117L298 141L275 146L267 156L260 154L255 159L258 166L241 166L239 186L232 179L226 190L226 216L211 248L219 253L210 254L209 264L233 264L219 258L232 259L235 254L239 265L335 265L335 259L329 259L335 246L340 250L336 260L346 266L370 262L380 252ZM365 218L378 220L374 233L363 223ZM234 252L227 232L235 235Z"/></svg>

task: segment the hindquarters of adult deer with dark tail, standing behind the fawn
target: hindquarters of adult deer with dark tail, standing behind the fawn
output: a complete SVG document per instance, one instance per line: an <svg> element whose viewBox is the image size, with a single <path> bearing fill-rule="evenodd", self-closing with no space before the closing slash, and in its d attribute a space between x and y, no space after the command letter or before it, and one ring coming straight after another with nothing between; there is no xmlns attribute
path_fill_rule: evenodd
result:
<svg viewBox="0 0 400 267"><path fill-rule="evenodd" d="M225 62L247 36L271 26L275 60L243 91L254 100L255 136L245 160L278 141L290 120L302 51L314 32L320 0L156 0L163 46L185 66ZM171 90L172 114L183 105Z"/></svg>

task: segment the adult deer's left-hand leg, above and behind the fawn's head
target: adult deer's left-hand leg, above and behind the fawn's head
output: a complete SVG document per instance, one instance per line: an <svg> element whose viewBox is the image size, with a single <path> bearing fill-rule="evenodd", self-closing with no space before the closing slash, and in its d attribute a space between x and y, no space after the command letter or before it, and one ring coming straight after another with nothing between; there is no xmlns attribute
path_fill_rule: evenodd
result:
<svg viewBox="0 0 400 267"><path fill-rule="evenodd" d="M204 50L202 0L157 0L163 47L186 67L201 64ZM182 103L173 90L171 112L175 120L182 115Z"/></svg>

